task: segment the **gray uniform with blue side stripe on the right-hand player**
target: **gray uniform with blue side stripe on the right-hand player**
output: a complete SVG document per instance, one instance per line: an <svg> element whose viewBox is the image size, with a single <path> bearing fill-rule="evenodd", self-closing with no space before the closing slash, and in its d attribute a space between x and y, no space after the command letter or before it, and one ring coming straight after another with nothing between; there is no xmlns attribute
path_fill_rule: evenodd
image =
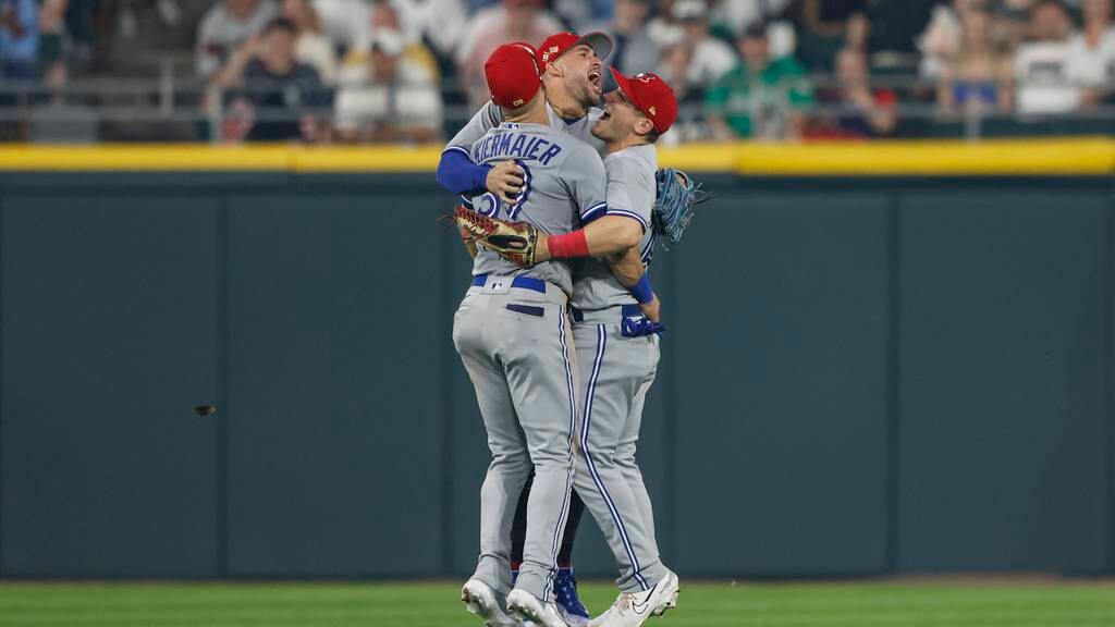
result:
<svg viewBox="0 0 1115 627"><path fill-rule="evenodd" d="M650 226L655 204L655 146L634 146L604 157L609 215L624 215L643 226L640 251L649 263L655 245ZM573 344L581 364L581 432L578 493L598 521L620 566L624 591L647 590L666 577L658 554L650 496L636 464L647 390L658 369L658 336L633 336L624 320L642 317L628 288L602 259L574 267Z"/></svg>

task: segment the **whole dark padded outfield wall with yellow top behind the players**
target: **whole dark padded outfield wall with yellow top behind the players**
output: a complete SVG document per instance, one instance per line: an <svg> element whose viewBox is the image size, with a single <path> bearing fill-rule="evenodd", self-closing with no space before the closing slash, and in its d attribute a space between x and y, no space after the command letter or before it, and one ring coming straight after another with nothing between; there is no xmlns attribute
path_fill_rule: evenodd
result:
<svg viewBox="0 0 1115 627"><path fill-rule="evenodd" d="M469 572L436 158L0 149L0 575ZM677 570L1115 571L1109 142L662 161L717 193L652 268L640 459Z"/></svg>

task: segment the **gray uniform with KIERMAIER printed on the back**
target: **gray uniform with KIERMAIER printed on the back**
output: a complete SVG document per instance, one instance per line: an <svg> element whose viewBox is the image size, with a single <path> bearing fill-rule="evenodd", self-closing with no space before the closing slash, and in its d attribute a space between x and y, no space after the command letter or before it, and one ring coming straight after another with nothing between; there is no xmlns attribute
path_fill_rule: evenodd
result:
<svg viewBox="0 0 1115 627"><path fill-rule="evenodd" d="M515 205L485 193L471 199L476 211L560 234L604 210L600 156L561 131L504 123L475 142L469 154L476 163L514 158L526 173ZM474 577L498 592L510 591L511 527L533 465L516 586L543 601L552 598L580 422L570 293L568 264L522 269L481 249L473 263L473 287L453 325L492 451L481 489L481 556Z"/></svg>

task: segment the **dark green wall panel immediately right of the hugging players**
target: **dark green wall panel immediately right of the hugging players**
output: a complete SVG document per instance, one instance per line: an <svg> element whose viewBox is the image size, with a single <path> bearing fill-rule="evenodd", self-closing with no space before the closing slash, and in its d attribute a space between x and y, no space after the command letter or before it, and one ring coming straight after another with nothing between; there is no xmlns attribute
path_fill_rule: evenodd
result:
<svg viewBox="0 0 1115 627"><path fill-rule="evenodd" d="M879 192L729 191L659 253L681 571L886 568L886 219Z"/></svg>

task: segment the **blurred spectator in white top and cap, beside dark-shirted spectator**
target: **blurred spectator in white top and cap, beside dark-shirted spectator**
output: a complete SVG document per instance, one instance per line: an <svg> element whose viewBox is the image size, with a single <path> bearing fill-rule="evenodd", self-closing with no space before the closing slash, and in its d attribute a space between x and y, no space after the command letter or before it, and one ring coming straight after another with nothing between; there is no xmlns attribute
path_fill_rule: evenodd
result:
<svg viewBox="0 0 1115 627"><path fill-rule="evenodd" d="M367 54L341 68L337 132L346 142L432 142L440 135L442 93L433 58L420 44L377 29Z"/></svg>

